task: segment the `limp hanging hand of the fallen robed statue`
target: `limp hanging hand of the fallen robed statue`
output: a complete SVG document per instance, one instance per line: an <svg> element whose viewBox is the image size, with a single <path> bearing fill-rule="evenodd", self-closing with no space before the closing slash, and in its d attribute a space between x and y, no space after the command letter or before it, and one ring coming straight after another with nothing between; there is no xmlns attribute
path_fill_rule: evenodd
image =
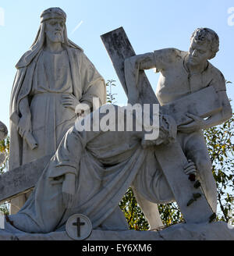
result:
<svg viewBox="0 0 234 256"><path fill-rule="evenodd" d="M62 183L62 198L66 208L72 208L73 198L76 189L76 176L73 173L66 173Z"/></svg>

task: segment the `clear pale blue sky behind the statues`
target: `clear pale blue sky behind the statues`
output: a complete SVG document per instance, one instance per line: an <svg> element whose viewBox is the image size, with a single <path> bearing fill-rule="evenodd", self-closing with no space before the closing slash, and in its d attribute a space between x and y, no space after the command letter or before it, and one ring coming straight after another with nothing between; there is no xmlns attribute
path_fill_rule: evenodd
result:
<svg viewBox="0 0 234 256"><path fill-rule="evenodd" d="M137 54L168 47L187 50L193 30L210 27L220 37L220 52L211 63L222 71L226 80L234 83L234 26L230 26L234 17L232 19L231 13L228 13L228 9L234 7L231 0L0 1L0 120L7 126L16 62L33 43L41 12L55 6L64 9L67 14L69 38L83 48L105 80L116 80L114 93L118 94L116 99L119 104L126 103L126 96L100 38L101 34L118 27L124 27ZM158 75L150 70L147 76L155 91ZM229 85L228 94L233 100L234 84Z"/></svg>

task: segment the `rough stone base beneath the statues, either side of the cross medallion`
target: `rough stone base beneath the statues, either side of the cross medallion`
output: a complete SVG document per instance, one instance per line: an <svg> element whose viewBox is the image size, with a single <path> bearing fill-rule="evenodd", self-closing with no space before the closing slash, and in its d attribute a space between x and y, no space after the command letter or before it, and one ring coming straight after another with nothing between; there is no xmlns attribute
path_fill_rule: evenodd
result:
<svg viewBox="0 0 234 256"><path fill-rule="evenodd" d="M72 240L65 231L48 234L12 233L0 229L0 240ZM93 230L87 240L234 240L226 222L180 223L161 231Z"/></svg>

